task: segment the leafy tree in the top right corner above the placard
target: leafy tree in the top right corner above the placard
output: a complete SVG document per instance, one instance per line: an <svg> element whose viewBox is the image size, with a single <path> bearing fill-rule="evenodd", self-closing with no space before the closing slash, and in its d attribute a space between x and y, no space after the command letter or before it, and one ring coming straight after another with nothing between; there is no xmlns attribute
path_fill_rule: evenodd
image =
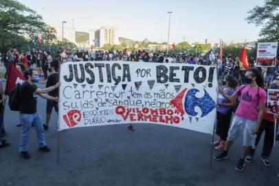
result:
<svg viewBox="0 0 279 186"><path fill-rule="evenodd" d="M269 40L279 40L279 1L266 0L263 6L255 6L248 12L248 23L263 25L260 37Z"/></svg>

